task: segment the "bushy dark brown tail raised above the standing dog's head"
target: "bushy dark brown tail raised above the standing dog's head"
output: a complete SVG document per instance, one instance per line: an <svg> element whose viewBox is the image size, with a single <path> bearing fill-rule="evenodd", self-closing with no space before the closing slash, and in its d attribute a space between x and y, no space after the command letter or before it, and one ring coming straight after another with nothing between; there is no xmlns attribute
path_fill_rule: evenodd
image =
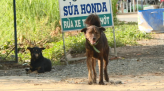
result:
<svg viewBox="0 0 164 91"><path fill-rule="evenodd" d="M99 16L96 14L89 15L85 20L85 24L87 24L88 26L95 25L97 27L101 27Z"/></svg>

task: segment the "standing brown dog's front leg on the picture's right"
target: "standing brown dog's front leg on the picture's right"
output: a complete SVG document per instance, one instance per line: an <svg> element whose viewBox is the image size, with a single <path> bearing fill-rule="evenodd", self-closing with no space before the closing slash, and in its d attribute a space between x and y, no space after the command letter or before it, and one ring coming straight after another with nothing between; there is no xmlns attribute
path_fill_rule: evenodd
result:
<svg viewBox="0 0 164 91"><path fill-rule="evenodd" d="M103 82L103 59L98 60L99 63L99 84L104 85Z"/></svg>

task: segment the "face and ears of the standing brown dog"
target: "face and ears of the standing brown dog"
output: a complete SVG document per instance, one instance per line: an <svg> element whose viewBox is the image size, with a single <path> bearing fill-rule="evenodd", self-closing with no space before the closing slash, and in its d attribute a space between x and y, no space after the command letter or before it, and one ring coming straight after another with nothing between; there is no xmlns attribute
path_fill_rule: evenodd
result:
<svg viewBox="0 0 164 91"><path fill-rule="evenodd" d="M89 40L91 45L96 44L97 40L101 36L101 32L105 31L103 27L97 27L95 25L91 25L87 28L83 28L81 32L84 32L85 37Z"/></svg>

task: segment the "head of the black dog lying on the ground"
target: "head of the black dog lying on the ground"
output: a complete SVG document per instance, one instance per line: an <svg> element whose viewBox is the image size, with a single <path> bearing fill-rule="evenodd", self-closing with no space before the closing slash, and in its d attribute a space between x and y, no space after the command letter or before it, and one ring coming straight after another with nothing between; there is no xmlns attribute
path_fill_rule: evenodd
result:
<svg viewBox="0 0 164 91"><path fill-rule="evenodd" d="M42 50L44 50L45 48L28 47L27 49L30 50L32 59L38 59L38 58L42 57Z"/></svg>

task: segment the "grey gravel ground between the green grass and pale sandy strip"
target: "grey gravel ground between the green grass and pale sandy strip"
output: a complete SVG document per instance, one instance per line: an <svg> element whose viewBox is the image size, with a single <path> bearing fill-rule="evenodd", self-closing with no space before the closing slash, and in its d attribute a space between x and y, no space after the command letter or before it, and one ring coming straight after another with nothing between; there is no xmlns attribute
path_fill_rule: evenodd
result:
<svg viewBox="0 0 164 91"><path fill-rule="evenodd" d="M158 39L156 40L158 41ZM125 46L117 48L119 59L109 61L109 78L115 75L136 76L150 73L164 73L164 46L161 44L151 45L151 43L145 45L146 46ZM56 79L56 81L64 81L67 83L83 83L88 77L86 60L71 63L68 66L55 65L52 67L52 71L40 74L26 74L25 68L11 68L5 70L1 70L1 68L3 68L2 65L0 65L0 77L29 76L44 79ZM98 74L98 65L96 71Z"/></svg>

